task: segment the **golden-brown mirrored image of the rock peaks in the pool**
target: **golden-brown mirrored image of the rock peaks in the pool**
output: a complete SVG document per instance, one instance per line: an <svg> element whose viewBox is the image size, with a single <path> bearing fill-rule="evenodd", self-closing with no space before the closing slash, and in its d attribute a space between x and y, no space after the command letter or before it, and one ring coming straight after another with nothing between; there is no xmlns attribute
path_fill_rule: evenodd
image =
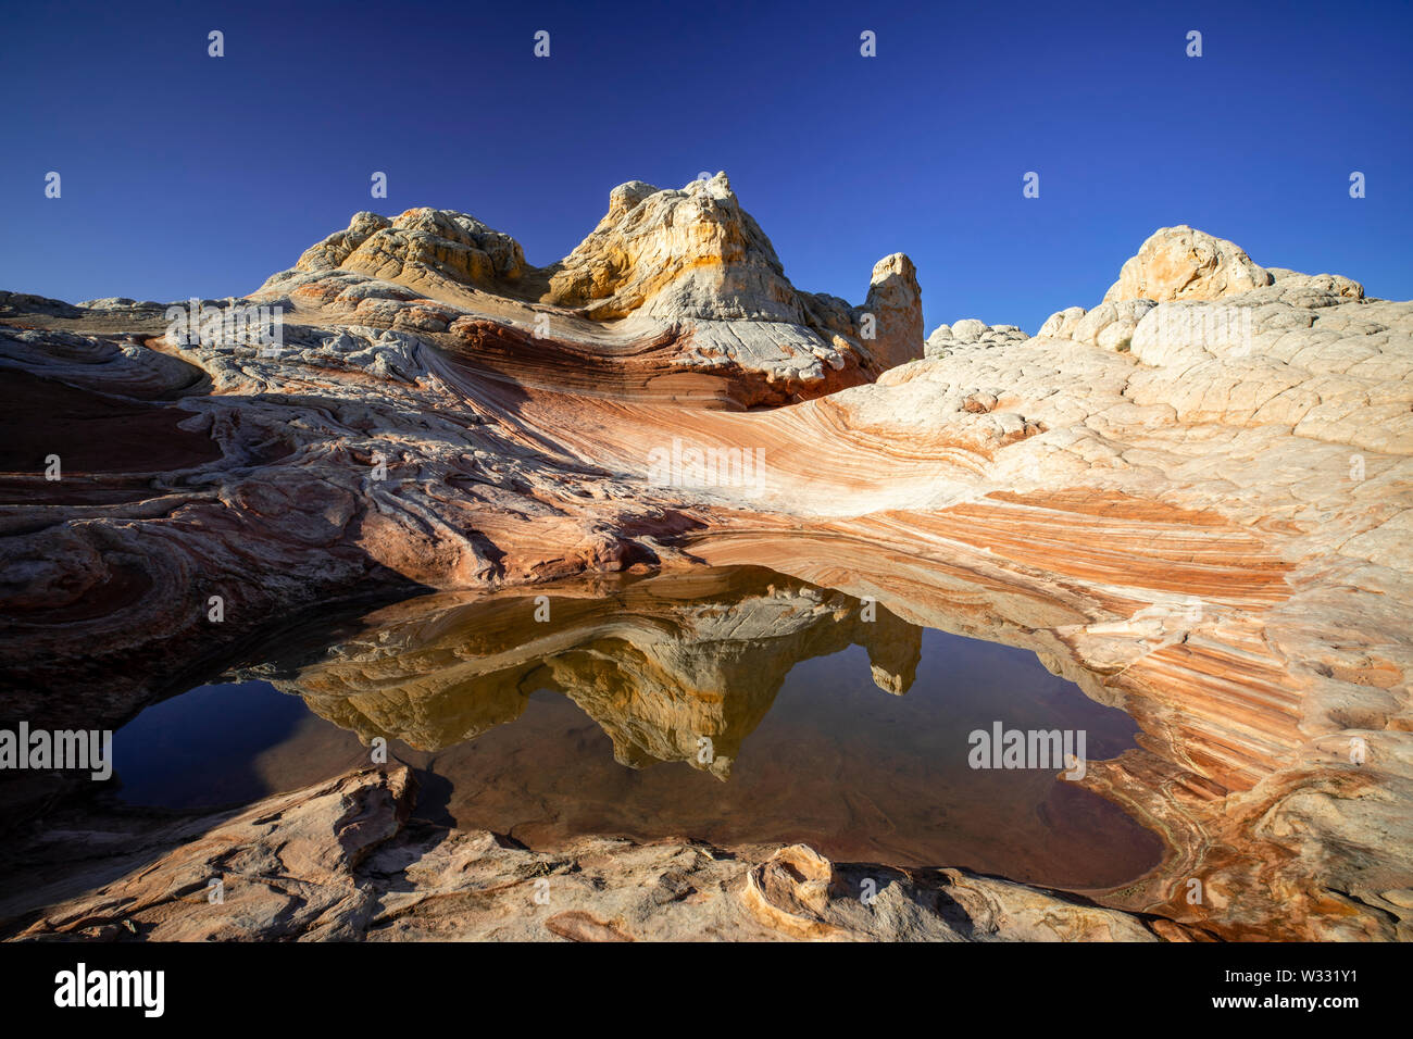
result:
<svg viewBox="0 0 1413 1039"><path fill-rule="evenodd" d="M800 660L862 645L879 688L899 694L921 656L916 625L877 606L865 619L849 595L756 567L545 591L390 606L276 684L365 741L428 751L555 690L599 724L619 762L685 761L725 777Z"/></svg>

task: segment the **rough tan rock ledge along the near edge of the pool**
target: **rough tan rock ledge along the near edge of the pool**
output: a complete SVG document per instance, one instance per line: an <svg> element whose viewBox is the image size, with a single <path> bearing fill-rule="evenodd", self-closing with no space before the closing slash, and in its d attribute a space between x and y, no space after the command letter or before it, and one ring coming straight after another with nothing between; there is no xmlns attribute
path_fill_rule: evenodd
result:
<svg viewBox="0 0 1413 1039"><path fill-rule="evenodd" d="M0 934L97 941L1153 941L1181 933L964 869L836 865L803 845L586 838L554 852L411 818L408 769L367 769L236 814L66 828L25 862L55 902L0 898ZM79 826L92 826L79 820ZM105 876L75 869L95 844ZM117 867L122 869L122 865ZM11 874L13 876L14 874ZM876 898L865 903L863 881ZM222 898L209 898L211 885ZM92 888L90 891L85 891ZM65 898L69 891L85 893Z"/></svg>

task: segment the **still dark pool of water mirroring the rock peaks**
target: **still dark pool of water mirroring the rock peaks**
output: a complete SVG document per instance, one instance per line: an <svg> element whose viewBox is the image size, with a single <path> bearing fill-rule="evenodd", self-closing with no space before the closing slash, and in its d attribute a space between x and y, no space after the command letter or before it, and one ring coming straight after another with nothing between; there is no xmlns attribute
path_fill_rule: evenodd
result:
<svg viewBox="0 0 1413 1039"><path fill-rule="evenodd" d="M148 708L114 738L123 799L192 809L298 789L366 765L362 734L420 769L420 816L530 847L800 840L1067 888L1160 858L1150 831L1054 768L969 766L968 734L996 721L1084 729L1089 761L1135 745L1128 715L1033 653L892 615L861 623L856 599L756 568L551 595L543 625L526 595L428 602L277 669L280 688L247 679Z"/></svg>

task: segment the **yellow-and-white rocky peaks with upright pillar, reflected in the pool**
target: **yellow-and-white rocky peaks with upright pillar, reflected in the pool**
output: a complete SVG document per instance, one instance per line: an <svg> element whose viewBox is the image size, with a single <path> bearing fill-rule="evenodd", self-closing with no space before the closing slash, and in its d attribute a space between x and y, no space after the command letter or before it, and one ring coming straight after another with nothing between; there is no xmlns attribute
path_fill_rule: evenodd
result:
<svg viewBox="0 0 1413 1039"><path fill-rule="evenodd" d="M473 360L538 353L561 385L586 375L602 385L615 368L610 379L715 387L738 407L866 382L921 356L923 341L911 260L879 260L859 307L801 293L725 174L680 191L619 185L598 228L544 269L465 213L356 213L256 297L449 332Z"/></svg>

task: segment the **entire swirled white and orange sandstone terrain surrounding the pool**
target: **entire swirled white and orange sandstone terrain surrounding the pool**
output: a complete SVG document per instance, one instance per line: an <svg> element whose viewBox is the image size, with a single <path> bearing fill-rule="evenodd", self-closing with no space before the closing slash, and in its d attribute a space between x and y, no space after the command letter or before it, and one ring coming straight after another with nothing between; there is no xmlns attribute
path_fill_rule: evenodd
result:
<svg viewBox="0 0 1413 1039"><path fill-rule="evenodd" d="M172 892L205 885L216 841L250 885L312 885L308 912L211 924L230 937L1409 937L1413 303L1178 226L1036 336L957 321L924 342L906 257L859 307L798 291L718 175L615 189L548 269L462 213L360 213L235 304L281 307L283 349L174 334L158 304L0 295L23 420L0 464L4 718L117 725L339 597L763 564L1033 650L1126 710L1142 751L1082 782L1167 855L1098 906L894 871L879 888L904 900L865 916L853 871L877 867L428 837L406 779L359 773L134 823L83 891L11 895L24 933L195 937L162 906L205 898ZM738 468L701 479L698 457ZM317 868L276 861L298 850L284 818L312 820ZM569 862L620 900L527 910L524 876Z"/></svg>

